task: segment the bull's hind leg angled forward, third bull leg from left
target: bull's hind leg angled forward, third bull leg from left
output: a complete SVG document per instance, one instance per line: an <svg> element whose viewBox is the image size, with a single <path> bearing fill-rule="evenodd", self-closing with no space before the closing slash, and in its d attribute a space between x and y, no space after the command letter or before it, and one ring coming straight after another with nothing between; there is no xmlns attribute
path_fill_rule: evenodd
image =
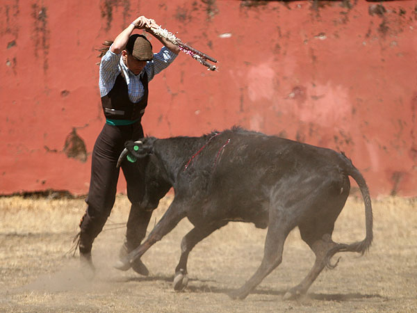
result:
<svg viewBox="0 0 417 313"><path fill-rule="evenodd" d="M243 287L229 293L231 298L244 299L248 294L271 273L282 261L282 250L288 233L291 230L290 223L286 218L281 216L281 210L272 209L270 212L270 221L268 232L266 233L265 247L263 250L263 259L261 266L252 275ZM271 214L272 213L272 214ZM286 220L286 221L285 221Z"/></svg>

